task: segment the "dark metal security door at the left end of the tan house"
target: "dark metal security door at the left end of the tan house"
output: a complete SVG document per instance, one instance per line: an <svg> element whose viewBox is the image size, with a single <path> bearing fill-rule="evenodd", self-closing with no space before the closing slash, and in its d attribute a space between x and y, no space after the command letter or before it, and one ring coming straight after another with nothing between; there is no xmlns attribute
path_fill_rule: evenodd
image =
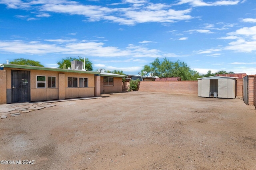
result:
<svg viewBox="0 0 256 170"><path fill-rule="evenodd" d="M30 71L12 70L12 103L30 101Z"/></svg>

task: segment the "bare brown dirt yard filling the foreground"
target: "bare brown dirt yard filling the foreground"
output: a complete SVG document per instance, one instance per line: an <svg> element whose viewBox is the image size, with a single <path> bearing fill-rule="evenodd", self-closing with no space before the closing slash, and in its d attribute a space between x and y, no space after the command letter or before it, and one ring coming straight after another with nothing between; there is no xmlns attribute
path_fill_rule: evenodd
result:
<svg viewBox="0 0 256 170"><path fill-rule="evenodd" d="M0 119L0 160L34 160L0 169L256 169L256 110L241 99L104 96Z"/></svg>

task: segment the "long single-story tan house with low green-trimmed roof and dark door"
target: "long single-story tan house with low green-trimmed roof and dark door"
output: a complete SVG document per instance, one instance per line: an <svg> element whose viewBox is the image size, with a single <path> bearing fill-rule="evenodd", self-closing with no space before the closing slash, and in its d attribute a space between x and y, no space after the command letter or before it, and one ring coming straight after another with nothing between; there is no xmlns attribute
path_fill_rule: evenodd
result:
<svg viewBox="0 0 256 170"><path fill-rule="evenodd" d="M0 104L98 97L103 92L118 93L122 92L123 77L128 76L0 64Z"/></svg>

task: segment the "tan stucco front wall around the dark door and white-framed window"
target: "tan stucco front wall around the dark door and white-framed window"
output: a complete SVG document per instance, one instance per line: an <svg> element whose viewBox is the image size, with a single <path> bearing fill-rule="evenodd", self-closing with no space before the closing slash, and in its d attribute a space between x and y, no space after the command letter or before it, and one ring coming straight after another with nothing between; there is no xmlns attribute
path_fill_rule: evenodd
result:
<svg viewBox="0 0 256 170"><path fill-rule="evenodd" d="M44 101L53 99L67 99L76 97L92 97L94 96L94 74L88 73L67 73L59 71L42 71L42 70L29 70L29 69L13 69L30 71L30 101ZM0 95L2 104L6 104L6 89L11 89L12 85L12 69L4 68L3 72L6 71L6 87L2 87L5 94ZM56 88L36 88L36 76L43 75L46 76L46 87L47 87L47 77L56 77ZM88 78L88 87L68 87L68 77L80 77ZM60 85L61 83L61 85ZM78 81L79 83L79 81ZM60 87L60 89L59 89ZM59 95L60 94L60 95Z"/></svg>

